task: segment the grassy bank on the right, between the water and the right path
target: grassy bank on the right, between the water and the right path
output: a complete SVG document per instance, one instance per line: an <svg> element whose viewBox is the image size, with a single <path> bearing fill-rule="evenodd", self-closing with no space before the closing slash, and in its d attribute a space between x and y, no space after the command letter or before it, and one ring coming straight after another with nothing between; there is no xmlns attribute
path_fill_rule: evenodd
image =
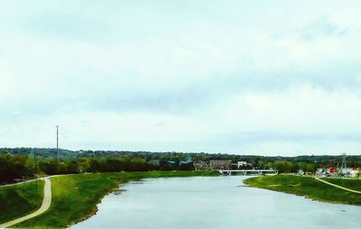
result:
<svg viewBox="0 0 361 229"><path fill-rule="evenodd" d="M361 205L361 195L329 186L313 178L288 175L262 176L245 179L245 184L254 188L290 193L323 202Z"/></svg>

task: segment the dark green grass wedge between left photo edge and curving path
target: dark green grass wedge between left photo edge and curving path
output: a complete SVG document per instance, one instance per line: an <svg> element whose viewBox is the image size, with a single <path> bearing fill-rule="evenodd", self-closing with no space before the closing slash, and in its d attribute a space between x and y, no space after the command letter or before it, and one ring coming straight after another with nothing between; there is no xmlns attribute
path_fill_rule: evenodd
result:
<svg viewBox="0 0 361 229"><path fill-rule="evenodd" d="M0 224L28 215L42 206L44 181L0 188Z"/></svg>

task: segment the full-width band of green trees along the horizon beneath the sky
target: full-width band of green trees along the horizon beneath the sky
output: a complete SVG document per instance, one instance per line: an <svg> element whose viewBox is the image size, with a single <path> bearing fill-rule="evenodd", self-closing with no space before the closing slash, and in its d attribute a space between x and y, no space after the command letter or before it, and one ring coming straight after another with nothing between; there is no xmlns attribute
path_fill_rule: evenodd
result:
<svg viewBox="0 0 361 229"><path fill-rule="evenodd" d="M70 174L81 172L115 172L145 170L194 169L192 162L209 160L246 161L247 168L315 172L318 168L335 167L342 156L267 157L222 153L182 153L149 151L67 151L56 149L2 148L0 149L0 182L33 178L39 174ZM348 167L361 167L361 156L347 156Z"/></svg>

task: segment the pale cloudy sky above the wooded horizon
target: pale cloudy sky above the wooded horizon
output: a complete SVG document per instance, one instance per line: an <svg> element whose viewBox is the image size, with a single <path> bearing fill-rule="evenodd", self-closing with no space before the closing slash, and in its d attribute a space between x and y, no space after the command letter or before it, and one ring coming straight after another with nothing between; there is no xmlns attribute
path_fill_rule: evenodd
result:
<svg viewBox="0 0 361 229"><path fill-rule="evenodd" d="M0 0L0 147L361 154L360 12Z"/></svg>

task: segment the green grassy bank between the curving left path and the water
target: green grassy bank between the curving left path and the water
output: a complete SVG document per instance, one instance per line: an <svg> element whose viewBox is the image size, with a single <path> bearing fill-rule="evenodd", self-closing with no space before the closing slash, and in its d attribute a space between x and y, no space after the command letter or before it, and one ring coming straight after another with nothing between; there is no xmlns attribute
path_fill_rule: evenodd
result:
<svg viewBox="0 0 361 229"><path fill-rule="evenodd" d="M77 174L51 178L51 208L15 227L66 227L97 211L102 197L130 180L192 176L218 176L215 171L149 171Z"/></svg>

